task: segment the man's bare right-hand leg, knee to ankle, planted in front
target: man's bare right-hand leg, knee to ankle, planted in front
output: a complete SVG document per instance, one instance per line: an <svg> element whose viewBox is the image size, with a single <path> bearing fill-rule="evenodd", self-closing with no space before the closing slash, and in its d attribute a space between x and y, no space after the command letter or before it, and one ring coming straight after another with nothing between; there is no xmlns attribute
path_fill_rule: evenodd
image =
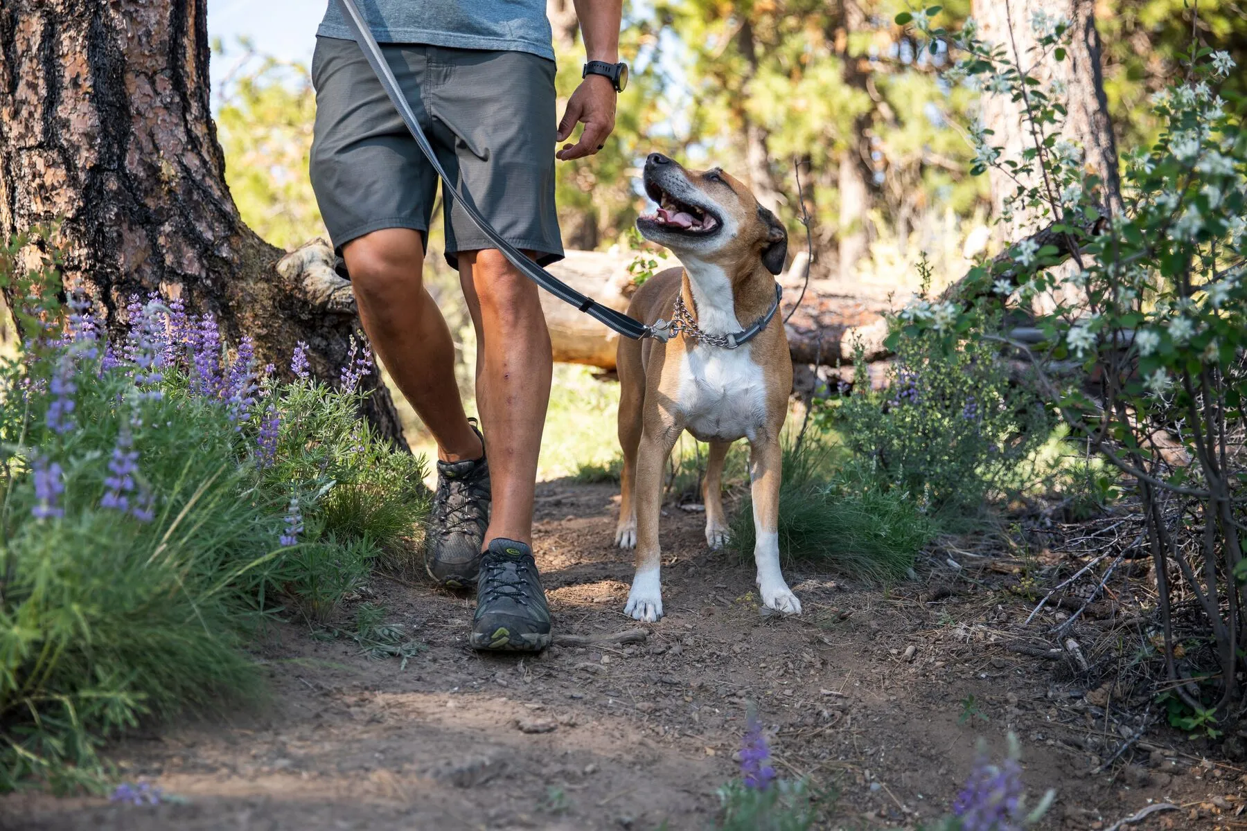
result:
<svg viewBox="0 0 1247 831"><path fill-rule="evenodd" d="M537 287L493 249L459 252L459 279L476 326L476 406L493 490L485 544L532 542L537 453L550 402L550 333Z"/></svg>

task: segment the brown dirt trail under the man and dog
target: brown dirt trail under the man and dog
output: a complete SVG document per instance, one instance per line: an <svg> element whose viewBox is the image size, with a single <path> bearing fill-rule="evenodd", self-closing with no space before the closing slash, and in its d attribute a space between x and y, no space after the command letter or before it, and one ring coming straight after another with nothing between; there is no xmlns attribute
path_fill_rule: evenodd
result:
<svg viewBox="0 0 1247 831"><path fill-rule="evenodd" d="M536 548L557 632L637 625L621 613L631 569L611 544L614 495L539 488ZM1186 807L1131 829L1215 827L1191 817L1201 802L1205 816L1242 810L1245 771L1201 767L1197 744L1155 730L1147 741L1171 750L1130 751L1141 764L1091 775L1089 748L1120 740L1096 743L1097 710L1062 662L1004 648L1024 602L965 581L933 592L939 576L883 592L806 568L788 572L806 614L762 617L752 568L706 549L702 515L668 513L667 617L643 627L642 643L481 655L465 645L470 598L377 578L390 619L416 625L429 647L405 670L283 627L261 650L273 689L264 711L110 749L127 780L185 804L19 794L0 800L0 827L705 829L736 770L746 700L758 701L782 775L838 787L833 827L938 815L976 736L999 753L1010 728L1031 791L1057 790L1046 827L1107 827L1150 800Z"/></svg>

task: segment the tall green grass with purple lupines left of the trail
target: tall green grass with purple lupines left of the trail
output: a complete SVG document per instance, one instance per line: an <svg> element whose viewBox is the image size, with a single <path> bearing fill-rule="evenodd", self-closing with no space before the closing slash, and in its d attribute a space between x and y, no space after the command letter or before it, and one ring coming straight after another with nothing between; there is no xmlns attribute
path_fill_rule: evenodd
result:
<svg viewBox="0 0 1247 831"><path fill-rule="evenodd" d="M35 343L0 361L0 792L100 791L105 740L264 696L247 644L293 613L339 614L383 547L402 548L421 520L424 462L375 437L353 392L263 380L239 412L192 394L178 368L140 387L141 370L102 368L90 343L75 341L69 363L65 346ZM47 416L57 366L72 370L65 429ZM271 411L268 463L257 439ZM128 508L150 516L105 498L128 452ZM50 502L36 470L62 487ZM369 648L414 654L365 623Z"/></svg>

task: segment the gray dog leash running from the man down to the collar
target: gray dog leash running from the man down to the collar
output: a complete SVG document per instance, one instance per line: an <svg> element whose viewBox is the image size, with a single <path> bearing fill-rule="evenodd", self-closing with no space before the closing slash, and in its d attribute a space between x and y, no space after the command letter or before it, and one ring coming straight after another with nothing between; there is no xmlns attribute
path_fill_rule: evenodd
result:
<svg viewBox="0 0 1247 831"><path fill-rule="evenodd" d="M667 343L672 335L681 331L681 328L676 325L673 320L667 321L660 319L653 324L645 324L636 318L602 305L597 300L581 294L525 257L520 249L505 240L503 235L493 228L493 226L485 222L485 218L480 216L480 212L476 209L475 203L466 198L464 191L455 187L455 184L450 181L450 177L446 174L445 168L441 167L441 162L438 161L436 154L433 152L433 145L429 143L428 137L424 135L424 130L420 128L420 122L412 111L412 105L403 95L403 90L398 85L398 78L394 77L394 71L385 61L382 47L377 44L377 37L373 36L373 31L369 29L368 21L364 20L364 16L359 12L359 6L355 5L355 0L338 0L338 2L345 12L347 25L354 34L355 42L359 44L359 49L363 50L364 57L368 60L368 65L373 67L373 72L377 75L377 80L380 81L382 88L385 90L385 95L389 96L390 103L393 103L394 108L398 110L398 115L403 120L403 123L407 125L407 128L412 132L412 137L415 138L415 143L420 148L420 152L424 153L429 164L431 164L433 169L436 171L438 178L441 179L443 186L445 186L445 188L459 199L459 204L463 206L464 213L466 213L468 217L476 223L476 227L480 228L481 233L498 247L498 250L503 252L503 255L506 257L506 259L509 259L515 268L520 269L525 277L531 279L550 294L555 295L564 303L576 306L580 311L584 311L589 316L605 324L609 329L617 331L625 338L631 338L632 340L653 338L661 343ZM776 315L776 310L779 308L781 293L782 288L778 283L776 283L776 302L774 305L771 306L771 310L748 329L722 336L731 344L727 345L727 343L725 343L727 349L736 349L741 344L747 343L762 331L768 323L771 323L771 319ZM690 329L690 331L695 330L696 324L693 324L693 328Z"/></svg>

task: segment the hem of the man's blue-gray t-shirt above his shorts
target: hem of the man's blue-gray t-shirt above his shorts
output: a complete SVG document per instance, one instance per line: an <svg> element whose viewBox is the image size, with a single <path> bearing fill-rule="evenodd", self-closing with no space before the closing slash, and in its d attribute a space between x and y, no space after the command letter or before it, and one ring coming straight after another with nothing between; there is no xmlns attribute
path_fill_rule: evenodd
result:
<svg viewBox="0 0 1247 831"><path fill-rule="evenodd" d="M545 0L355 0L382 44L531 52L554 60ZM352 40L338 0L317 35Z"/></svg>

